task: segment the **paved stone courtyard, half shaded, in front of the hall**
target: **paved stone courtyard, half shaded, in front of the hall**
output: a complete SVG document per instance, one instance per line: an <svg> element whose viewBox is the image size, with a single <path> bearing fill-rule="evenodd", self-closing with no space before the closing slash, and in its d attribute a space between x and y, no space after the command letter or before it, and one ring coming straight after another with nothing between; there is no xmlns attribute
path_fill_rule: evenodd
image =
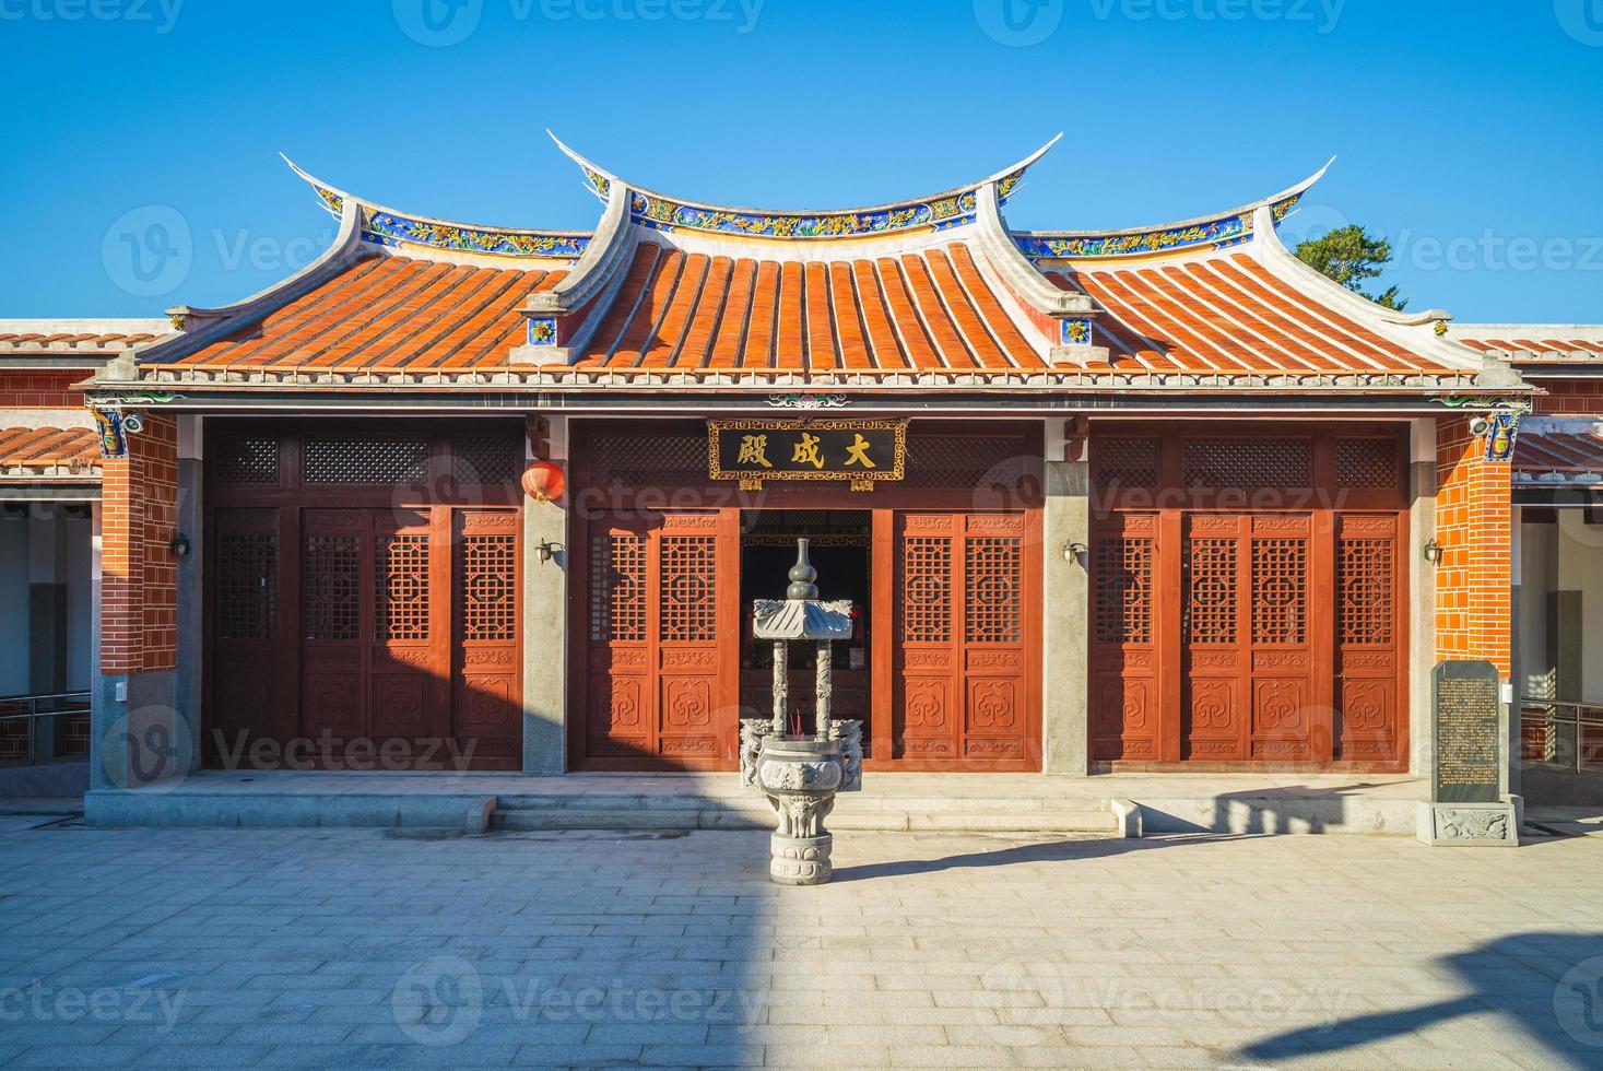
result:
<svg viewBox="0 0 1603 1071"><path fill-rule="evenodd" d="M6 1066L1603 1065L1603 842L91 831L0 814Z"/></svg>

